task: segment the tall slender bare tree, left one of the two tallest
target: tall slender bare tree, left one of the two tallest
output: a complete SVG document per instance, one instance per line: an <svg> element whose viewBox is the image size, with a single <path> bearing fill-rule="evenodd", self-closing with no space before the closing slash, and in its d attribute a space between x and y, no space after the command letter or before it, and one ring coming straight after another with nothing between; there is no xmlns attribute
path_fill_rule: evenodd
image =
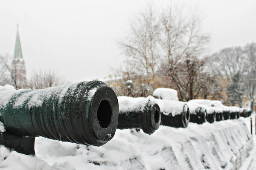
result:
<svg viewBox="0 0 256 170"><path fill-rule="evenodd" d="M129 64L153 82L159 59L158 40L159 20L153 6L148 5L131 24L128 37L119 42Z"/></svg>

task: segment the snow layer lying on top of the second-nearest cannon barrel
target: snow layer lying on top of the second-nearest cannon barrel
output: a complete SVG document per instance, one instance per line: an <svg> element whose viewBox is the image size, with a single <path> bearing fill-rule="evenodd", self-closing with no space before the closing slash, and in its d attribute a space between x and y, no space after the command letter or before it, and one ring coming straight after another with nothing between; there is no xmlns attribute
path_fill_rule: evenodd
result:
<svg viewBox="0 0 256 170"><path fill-rule="evenodd" d="M148 97L127 97L118 96L119 112L143 111L145 105L154 105L156 99L152 96Z"/></svg>

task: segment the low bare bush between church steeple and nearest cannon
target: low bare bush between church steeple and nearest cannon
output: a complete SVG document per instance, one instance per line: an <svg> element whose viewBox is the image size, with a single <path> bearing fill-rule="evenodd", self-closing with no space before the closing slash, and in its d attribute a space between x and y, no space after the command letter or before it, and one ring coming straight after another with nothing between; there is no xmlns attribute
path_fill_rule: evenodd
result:
<svg viewBox="0 0 256 170"><path fill-rule="evenodd" d="M43 89L64 84L64 79L56 71L39 70L31 74L30 85L33 89Z"/></svg>

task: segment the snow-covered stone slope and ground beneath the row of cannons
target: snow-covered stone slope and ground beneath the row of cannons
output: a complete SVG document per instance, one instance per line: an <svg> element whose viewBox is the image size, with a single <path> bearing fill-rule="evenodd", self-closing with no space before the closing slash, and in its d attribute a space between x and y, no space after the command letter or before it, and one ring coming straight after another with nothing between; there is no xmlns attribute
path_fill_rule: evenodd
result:
<svg viewBox="0 0 256 170"><path fill-rule="evenodd" d="M113 139L101 147L38 137L35 140L36 156L0 147L0 169L233 170L243 162L241 170L255 169L256 147L249 152L253 141L249 140L247 125L250 125L250 118L203 125L189 123L186 129L160 126L151 135L143 131L116 130Z"/></svg>

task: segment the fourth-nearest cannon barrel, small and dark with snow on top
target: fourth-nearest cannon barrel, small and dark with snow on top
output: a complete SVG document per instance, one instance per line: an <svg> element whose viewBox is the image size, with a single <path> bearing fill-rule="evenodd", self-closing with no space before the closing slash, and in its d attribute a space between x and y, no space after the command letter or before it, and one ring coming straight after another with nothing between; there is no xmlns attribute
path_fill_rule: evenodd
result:
<svg viewBox="0 0 256 170"><path fill-rule="evenodd" d="M190 118L189 122L203 124L207 122L207 112L204 105L187 102L189 106Z"/></svg>

